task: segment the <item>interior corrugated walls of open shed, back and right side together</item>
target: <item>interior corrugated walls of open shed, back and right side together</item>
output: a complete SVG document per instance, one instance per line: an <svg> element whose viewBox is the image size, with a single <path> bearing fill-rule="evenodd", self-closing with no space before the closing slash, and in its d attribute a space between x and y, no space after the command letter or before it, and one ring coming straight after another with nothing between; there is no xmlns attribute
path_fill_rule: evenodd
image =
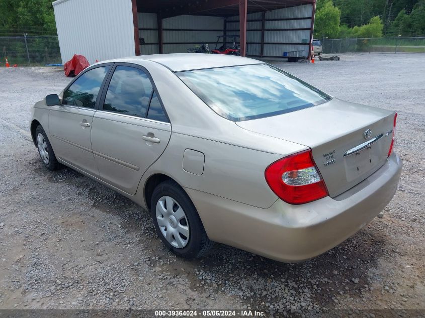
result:
<svg viewBox="0 0 425 318"><path fill-rule="evenodd" d="M285 56L308 56L312 11L313 5L303 5L248 14L247 55L283 57L285 53ZM138 19L139 28L144 29L139 31L145 42L140 46L141 54L158 53L156 15L139 13ZM195 44L202 43L208 43L214 49L217 36L224 32L223 19L206 16L163 19L163 53L184 53ZM226 18L226 34L239 35L239 16Z"/></svg>

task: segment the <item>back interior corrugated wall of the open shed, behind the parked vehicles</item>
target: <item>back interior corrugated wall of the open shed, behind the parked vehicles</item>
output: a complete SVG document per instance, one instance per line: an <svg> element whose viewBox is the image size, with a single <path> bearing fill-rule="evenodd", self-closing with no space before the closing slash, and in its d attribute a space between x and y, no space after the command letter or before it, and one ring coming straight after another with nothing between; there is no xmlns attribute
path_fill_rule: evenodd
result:
<svg viewBox="0 0 425 318"><path fill-rule="evenodd" d="M138 13L140 54L155 54L158 50L156 14ZM209 44L213 49L217 36L223 34L224 18L178 16L162 20L163 53L186 53L195 44ZM149 44L150 43L150 44Z"/></svg>

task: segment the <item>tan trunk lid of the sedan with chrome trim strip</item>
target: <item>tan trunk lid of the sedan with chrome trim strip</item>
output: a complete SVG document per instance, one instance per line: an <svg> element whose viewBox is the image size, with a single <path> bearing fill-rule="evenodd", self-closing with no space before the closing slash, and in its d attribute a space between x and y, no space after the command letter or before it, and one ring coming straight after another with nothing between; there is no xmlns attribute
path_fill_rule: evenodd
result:
<svg viewBox="0 0 425 318"><path fill-rule="evenodd" d="M310 147L331 197L385 163L393 124L392 111L336 98L288 114L236 122L243 129Z"/></svg>

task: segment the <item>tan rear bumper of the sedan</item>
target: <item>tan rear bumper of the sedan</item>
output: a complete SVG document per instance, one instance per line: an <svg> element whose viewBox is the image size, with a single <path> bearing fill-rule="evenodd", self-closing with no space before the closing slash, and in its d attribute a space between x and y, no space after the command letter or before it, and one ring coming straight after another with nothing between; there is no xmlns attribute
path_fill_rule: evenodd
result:
<svg viewBox="0 0 425 318"><path fill-rule="evenodd" d="M402 161L393 153L374 174L343 194L303 205L278 199L258 208L186 189L209 238L283 262L320 255L374 219L393 197Z"/></svg>

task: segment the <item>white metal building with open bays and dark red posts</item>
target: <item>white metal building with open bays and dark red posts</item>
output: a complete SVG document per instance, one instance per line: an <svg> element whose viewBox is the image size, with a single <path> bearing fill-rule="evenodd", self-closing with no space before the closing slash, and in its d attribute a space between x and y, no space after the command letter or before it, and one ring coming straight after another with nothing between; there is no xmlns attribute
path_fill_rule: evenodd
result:
<svg viewBox="0 0 425 318"><path fill-rule="evenodd" d="M310 56L315 0L57 0L53 2L62 63L90 63L156 53L215 48L238 35L241 55ZM240 18L241 17L241 18Z"/></svg>

